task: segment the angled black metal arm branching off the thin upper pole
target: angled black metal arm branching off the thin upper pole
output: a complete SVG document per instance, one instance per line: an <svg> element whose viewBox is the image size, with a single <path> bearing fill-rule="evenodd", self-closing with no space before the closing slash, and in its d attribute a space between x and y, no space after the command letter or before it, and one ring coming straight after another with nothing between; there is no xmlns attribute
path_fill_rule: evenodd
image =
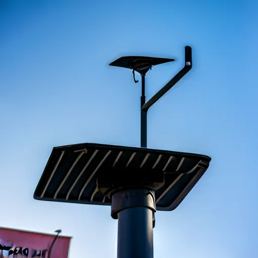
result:
<svg viewBox="0 0 258 258"><path fill-rule="evenodd" d="M183 76L185 76L192 67L191 47L184 47L184 68L179 71L161 90L159 90L150 100L148 100L143 106L142 110L147 112L148 109L158 101L168 90L170 90Z"/></svg>

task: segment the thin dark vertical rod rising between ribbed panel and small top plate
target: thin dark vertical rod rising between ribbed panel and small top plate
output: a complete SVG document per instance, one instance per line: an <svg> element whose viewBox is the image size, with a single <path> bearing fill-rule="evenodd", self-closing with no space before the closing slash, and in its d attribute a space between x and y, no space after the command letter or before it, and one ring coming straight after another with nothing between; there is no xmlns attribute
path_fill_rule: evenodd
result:
<svg viewBox="0 0 258 258"><path fill-rule="evenodd" d="M147 110L142 110L145 104L145 75L142 75L142 96L141 96L141 147L147 148Z"/></svg>

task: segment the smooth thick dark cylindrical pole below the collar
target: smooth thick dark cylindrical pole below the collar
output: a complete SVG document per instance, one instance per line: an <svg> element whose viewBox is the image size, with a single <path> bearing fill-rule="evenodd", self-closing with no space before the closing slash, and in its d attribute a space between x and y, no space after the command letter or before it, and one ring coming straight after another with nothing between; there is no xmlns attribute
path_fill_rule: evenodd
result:
<svg viewBox="0 0 258 258"><path fill-rule="evenodd" d="M153 211L146 207L118 214L117 258L153 258Z"/></svg>

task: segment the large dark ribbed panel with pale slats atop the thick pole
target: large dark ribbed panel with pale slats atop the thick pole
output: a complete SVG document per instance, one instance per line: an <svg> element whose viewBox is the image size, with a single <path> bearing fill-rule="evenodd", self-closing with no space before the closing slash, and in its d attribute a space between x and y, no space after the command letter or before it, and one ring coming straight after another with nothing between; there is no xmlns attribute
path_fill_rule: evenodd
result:
<svg viewBox="0 0 258 258"><path fill-rule="evenodd" d="M205 155L102 144L55 147L34 192L34 199L78 204L111 205L99 190L98 177L112 168L163 173L155 191L156 208L172 211L202 177L211 158Z"/></svg>

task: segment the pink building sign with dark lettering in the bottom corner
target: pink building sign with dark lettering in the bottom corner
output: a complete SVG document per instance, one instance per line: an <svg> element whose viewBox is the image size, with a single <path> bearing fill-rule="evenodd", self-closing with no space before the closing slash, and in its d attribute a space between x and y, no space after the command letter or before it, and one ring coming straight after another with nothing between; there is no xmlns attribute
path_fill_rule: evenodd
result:
<svg viewBox="0 0 258 258"><path fill-rule="evenodd" d="M0 227L0 258L48 258L55 235ZM71 237L58 236L51 258L67 258Z"/></svg>

